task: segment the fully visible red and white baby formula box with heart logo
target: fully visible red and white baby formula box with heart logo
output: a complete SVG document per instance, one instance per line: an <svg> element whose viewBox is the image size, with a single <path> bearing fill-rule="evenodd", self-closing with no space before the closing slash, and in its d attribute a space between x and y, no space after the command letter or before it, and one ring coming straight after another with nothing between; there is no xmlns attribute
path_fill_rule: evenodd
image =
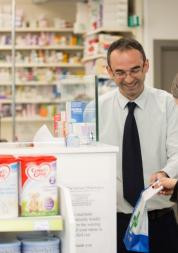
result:
<svg viewBox="0 0 178 253"><path fill-rule="evenodd" d="M58 214L56 157L23 156L19 161L21 216Z"/></svg>

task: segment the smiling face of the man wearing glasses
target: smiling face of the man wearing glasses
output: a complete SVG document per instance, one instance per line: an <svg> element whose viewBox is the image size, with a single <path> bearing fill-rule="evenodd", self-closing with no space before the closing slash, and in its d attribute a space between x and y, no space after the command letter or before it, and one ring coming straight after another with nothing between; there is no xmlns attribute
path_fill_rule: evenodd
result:
<svg viewBox="0 0 178 253"><path fill-rule="evenodd" d="M119 87L121 94L134 100L144 89L148 67L148 60L144 62L138 50L114 50L110 55L110 66L107 66L107 70Z"/></svg>

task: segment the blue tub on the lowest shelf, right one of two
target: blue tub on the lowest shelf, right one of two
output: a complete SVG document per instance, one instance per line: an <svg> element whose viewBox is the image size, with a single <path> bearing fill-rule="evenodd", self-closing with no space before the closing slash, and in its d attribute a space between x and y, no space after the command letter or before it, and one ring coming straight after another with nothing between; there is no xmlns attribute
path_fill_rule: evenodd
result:
<svg viewBox="0 0 178 253"><path fill-rule="evenodd" d="M22 253L60 253L60 239L57 237L22 240Z"/></svg>

